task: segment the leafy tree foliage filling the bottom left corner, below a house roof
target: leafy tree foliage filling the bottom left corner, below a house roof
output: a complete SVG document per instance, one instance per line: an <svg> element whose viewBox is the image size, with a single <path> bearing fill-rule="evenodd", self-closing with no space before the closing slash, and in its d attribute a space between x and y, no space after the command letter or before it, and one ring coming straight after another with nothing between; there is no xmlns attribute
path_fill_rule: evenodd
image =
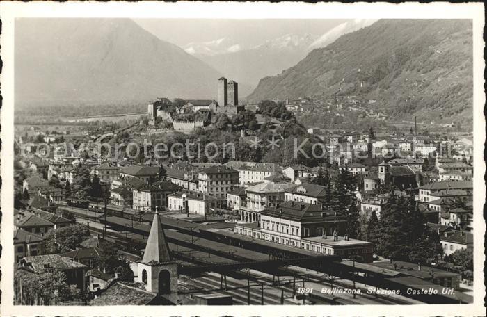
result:
<svg viewBox="0 0 487 317"><path fill-rule="evenodd" d="M85 299L79 288L68 285L61 270L44 270L40 273L25 274L15 270L16 298L22 298L17 304L53 305L65 301ZM22 295L19 292L22 290Z"/></svg>

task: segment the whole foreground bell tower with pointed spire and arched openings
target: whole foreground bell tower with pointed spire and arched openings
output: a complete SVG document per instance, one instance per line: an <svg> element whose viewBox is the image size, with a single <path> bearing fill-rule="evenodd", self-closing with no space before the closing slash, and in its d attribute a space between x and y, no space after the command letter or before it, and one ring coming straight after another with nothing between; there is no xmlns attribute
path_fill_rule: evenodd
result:
<svg viewBox="0 0 487 317"><path fill-rule="evenodd" d="M177 263L170 257L159 213L154 213L142 261L138 262L137 282L151 293L177 304Z"/></svg>

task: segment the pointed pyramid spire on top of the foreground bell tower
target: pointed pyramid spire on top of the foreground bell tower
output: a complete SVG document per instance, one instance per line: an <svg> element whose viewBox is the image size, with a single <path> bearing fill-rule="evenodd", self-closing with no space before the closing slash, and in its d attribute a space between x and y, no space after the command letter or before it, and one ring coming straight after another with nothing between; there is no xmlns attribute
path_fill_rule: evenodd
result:
<svg viewBox="0 0 487 317"><path fill-rule="evenodd" d="M150 227L149 238L147 238L147 245L145 245L143 263L166 263L170 262L170 252L168 242L166 241L166 235L162 228L161 218L159 213L154 213L154 220L152 220L152 226Z"/></svg>

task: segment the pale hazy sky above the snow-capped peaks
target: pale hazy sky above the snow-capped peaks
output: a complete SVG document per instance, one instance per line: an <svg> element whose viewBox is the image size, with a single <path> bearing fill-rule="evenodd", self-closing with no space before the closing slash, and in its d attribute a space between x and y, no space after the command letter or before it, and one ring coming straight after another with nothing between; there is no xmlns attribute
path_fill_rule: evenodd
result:
<svg viewBox="0 0 487 317"><path fill-rule="evenodd" d="M161 40L184 46L230 38L244 46L289 33L321 35L348 19L134 19Z"/></svg>

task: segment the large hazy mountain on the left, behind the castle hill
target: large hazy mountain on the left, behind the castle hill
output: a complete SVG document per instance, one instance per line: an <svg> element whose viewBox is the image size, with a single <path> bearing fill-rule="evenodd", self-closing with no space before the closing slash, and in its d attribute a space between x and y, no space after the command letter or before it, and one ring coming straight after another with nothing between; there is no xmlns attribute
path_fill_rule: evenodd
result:
<svg viewBox="0 0 487 317"><path fill-rule="evenodd" d="M18 19L15 102L216 98L221 73L131 19Z"/></svg>

